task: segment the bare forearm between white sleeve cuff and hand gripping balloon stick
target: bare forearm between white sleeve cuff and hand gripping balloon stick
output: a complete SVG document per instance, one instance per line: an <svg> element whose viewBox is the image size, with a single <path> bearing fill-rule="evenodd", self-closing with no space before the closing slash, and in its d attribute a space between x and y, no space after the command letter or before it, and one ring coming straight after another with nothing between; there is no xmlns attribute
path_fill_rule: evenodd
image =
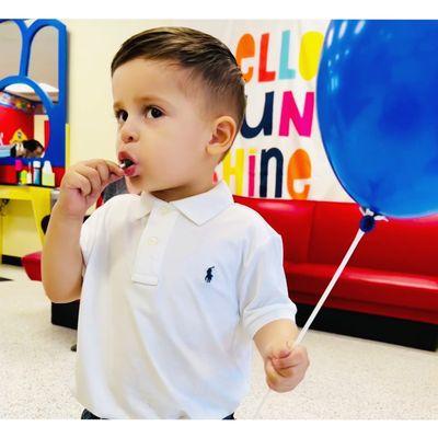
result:
<svg viewBox="0 0 438 438"><path fill-rule="evenodd" d="M275 320L256 332L254 343L265 361L274 353L292 347L297 336L298 327L291 320Z"/></svg>

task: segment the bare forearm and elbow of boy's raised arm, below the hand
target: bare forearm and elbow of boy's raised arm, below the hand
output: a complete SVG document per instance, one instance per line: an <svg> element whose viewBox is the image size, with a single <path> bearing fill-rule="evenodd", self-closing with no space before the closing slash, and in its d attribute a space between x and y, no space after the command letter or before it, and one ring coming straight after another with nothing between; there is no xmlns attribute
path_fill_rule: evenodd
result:
<svg viewBox="0 0 438 438"><path fill-rule="evenodd" d="M54 206L42 255L46 296L55 303L80 299L82 253L79 244L83 219L69 217Z"/></svg>

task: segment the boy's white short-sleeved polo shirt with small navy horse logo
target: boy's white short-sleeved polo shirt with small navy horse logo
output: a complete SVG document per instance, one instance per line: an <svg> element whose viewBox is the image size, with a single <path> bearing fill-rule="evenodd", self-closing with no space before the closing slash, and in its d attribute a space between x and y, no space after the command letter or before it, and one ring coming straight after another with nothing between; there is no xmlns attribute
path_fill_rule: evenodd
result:
<svg viewBox="0 0 438 438"><path fill-rule="evenodd" d="M104 418L216 418L249 392L252 338L290 319L281 237L221 181L118 195L84 222L74 394Z"/></svg>

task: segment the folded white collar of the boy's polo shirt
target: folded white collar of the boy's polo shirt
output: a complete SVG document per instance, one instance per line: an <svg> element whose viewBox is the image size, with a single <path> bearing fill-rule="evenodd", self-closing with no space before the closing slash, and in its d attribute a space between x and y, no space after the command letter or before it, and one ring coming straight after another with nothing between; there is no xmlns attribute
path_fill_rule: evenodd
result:
<svg viewBox="0 0 438 438"><path fill-rule="evenodd" d="M149 215L154 206L173 206L189 220L198 226L207 222L234 203L233 196L227 183L221 180L211 189L198 195L166 203L149 192L141 192L137 208L134 211L135 219Z"/></svg>

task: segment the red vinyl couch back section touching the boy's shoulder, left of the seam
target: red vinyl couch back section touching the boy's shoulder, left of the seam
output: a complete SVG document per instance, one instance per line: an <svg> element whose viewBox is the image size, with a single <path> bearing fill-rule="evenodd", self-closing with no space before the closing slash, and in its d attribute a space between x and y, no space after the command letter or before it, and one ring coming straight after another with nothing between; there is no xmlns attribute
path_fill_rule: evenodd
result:
<svg viewBox="0 0 438 438"><path fill-rule="evenodd" d="M235 203L256 210L281 234L285 260L307 262L314 201L233 197Z"/></svg>

